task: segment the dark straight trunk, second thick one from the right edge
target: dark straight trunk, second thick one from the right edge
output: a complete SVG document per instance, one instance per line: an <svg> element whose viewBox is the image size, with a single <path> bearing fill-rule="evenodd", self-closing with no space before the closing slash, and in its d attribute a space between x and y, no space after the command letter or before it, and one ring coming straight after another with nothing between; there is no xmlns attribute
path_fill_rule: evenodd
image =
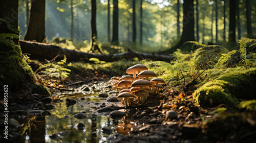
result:
<svg viewBox="0 0 256 143"><path fill-rule="evenodd" d="M229 0L228 42L236 43L236 1Z"/></svg>

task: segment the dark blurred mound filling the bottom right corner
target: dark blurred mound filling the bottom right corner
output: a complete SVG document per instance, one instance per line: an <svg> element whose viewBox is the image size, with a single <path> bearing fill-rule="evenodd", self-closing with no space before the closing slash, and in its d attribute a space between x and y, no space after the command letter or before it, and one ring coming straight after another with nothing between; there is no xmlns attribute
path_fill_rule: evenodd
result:
<svg viewBox="0 0 256 143"><path fill-rule="evenodd" d="M250 113L221 114L205 121L203 132L209 142L255 142L253 116Z"/></svg>

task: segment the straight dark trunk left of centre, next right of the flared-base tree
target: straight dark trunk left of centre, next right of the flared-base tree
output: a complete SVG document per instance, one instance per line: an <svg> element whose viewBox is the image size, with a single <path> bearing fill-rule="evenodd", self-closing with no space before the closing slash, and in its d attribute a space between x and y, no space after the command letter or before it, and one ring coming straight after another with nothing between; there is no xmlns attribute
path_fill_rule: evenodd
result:
<svg viewBox="0 0 256 143"><path fill-rule="evenodd" d="M112 44L118 44L118 0L113 0L113 33L112 33Z"/></svg>

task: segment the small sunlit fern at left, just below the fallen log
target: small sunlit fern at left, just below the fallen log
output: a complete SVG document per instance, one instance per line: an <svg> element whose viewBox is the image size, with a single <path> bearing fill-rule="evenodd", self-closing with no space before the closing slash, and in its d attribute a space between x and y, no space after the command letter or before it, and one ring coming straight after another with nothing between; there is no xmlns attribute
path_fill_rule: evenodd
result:
<svg viewBox="0 0 256 143"><path fill-rule="evenodd" d="M42 66L40 66L36 71L35 75L42 73L45 76L50 76L50 77L58 77L58 78L67 78L70 75L67 73L67 71L71 71L68 68L63 67L62 65L65 64L67 61L66 56L64 55L64 59L61 61L58 61L57 64L54 63L47 63Z"/></svg>

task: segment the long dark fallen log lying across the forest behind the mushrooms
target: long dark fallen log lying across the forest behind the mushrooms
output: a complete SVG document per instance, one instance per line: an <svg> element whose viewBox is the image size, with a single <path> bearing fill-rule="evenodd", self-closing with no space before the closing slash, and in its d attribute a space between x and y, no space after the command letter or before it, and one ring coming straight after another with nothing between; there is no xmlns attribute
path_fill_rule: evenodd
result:
<svg viewBox="0 0 256 143"><path fill-rule="evenodd" d="M59 46L55 46L52 44L46 43L38 43L31 41L20 41L20 47L22 48L23 53L29 53L29 57L31 59L38 59L44 61L45 59L51 60L57 55L65 54L67 57L67 61L85 61L90 62L90 58L97 58L100 61L113 62L124 59L132 59L138 57L140 60L142 59L151 59L154 61L170 61L173 60L174 57L168 55L158 55L158 54L147 54L147 53L137 53L137 52L126 52L120 54L111 54L111 55L99 55L93 53L83 53L77 52L74 50L62 49ZM56 60L63 59L63 56L59 56Z"/></svg>

